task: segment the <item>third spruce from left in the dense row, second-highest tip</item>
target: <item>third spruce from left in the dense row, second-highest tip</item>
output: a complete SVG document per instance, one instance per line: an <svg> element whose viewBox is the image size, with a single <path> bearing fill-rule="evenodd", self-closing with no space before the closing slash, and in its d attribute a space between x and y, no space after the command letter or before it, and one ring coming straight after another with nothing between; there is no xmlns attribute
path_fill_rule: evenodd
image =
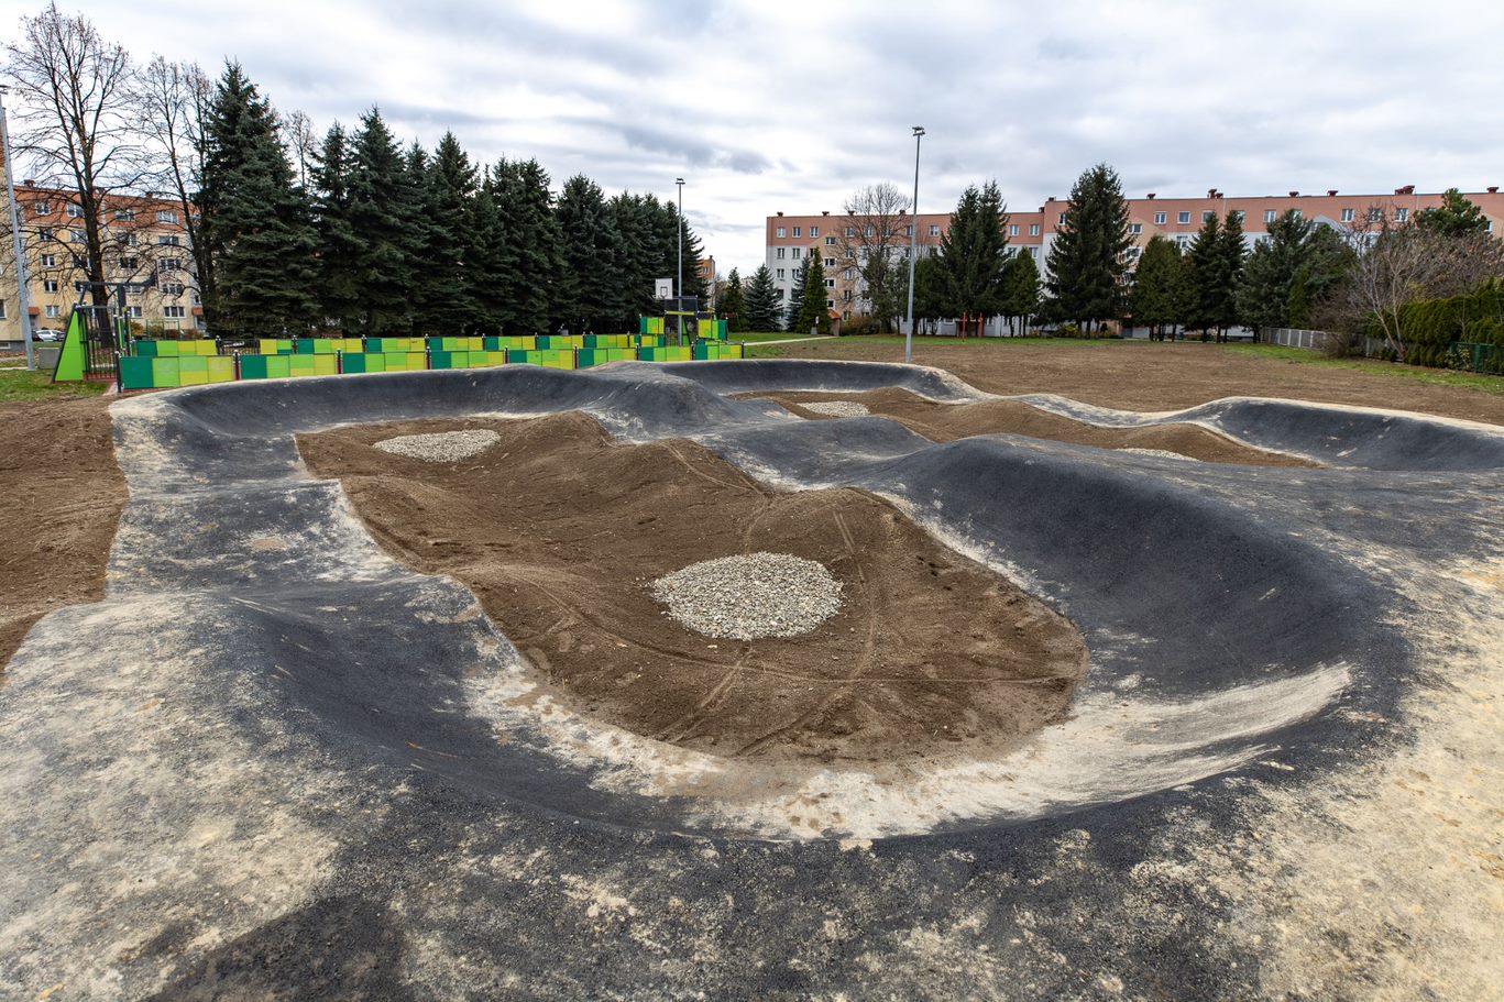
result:
<svg viewBox="0 0 1504 1002"><path fill-rule="evenodd" d="M349 223L359 302L352 316L364 337L405 337L414 331L414 281L418 262L406 230L418 208L408 159L371 108L361 116L350 156Z"/></svg>

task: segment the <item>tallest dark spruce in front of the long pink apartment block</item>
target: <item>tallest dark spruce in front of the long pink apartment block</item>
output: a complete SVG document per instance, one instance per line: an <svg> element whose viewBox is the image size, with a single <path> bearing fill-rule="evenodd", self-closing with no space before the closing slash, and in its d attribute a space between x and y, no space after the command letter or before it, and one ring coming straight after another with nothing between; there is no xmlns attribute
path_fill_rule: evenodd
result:
<svg viewBox="0 0 1504 1002"><path fill-rule="evenodd" d="M1053 311L1081 323L1122 316L1123 254L1131 244L1122 182L1111 167L1096 164L1071 188L1065 223L1050 245L1045 286Z"/></svg>

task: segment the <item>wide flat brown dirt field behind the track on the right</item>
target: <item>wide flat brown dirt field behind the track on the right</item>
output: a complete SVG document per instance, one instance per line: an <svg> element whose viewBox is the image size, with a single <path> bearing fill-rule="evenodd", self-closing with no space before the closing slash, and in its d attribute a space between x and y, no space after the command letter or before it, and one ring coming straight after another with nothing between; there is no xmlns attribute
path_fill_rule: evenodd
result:
<svg viewBox="0 0 1504 1002"><path fill-rule="evenodd" d="M779 348L785 358L904 361L901 343L866 339ZM914 340L914 363L949 370L988 393L1059 393L1126 411L1178 411L1221 397L1284 397L1504 424L1499 394L1379 372L1259 358L1215 345L982 345L976 339L920 337Z"/></svg>

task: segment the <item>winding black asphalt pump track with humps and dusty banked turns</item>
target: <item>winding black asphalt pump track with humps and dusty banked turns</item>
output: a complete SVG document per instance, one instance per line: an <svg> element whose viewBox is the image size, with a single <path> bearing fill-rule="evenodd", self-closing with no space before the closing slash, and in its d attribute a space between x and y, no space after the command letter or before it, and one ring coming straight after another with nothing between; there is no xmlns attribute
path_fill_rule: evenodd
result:
<svg viewBox="0 0 1504 1002"><path fill-rule="evenodd" d="M1290 930L1319 916L1250 888L1321 861L1257 832L1293 838L1295 815L1351 796L1345 776L1424 743L1418 688L1498 660L1504 432L1011 399L1292 460L1250 466L935 442L749 399L892 390L996 400L919 367L737 361L114 405L131 501L107 599L44 618L0 686L0 996L1209 999L1298 981ZM621 444L689 439L767 490L901 512L1080 630L1068 715L901 779L835 763L731 782L746 763L538 698L475 594L394 560L296 442L575 411ZM1311 963L1311 984L1337 970Z"/></svg>

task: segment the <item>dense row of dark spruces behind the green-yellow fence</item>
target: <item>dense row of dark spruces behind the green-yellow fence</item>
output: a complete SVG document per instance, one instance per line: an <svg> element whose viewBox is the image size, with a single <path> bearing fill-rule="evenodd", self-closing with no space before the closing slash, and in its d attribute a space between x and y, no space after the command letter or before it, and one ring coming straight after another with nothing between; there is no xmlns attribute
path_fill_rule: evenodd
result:
<svg viewBox="0 0 1504 1002"><path fill-rule="evenodd" d="M584 175L555 196L535 159L477 164L447 132L403 149L371 108L335 123L307 185L277 111L230 63L209 105L197 199L220 337L636 329L653 280L705 298L699 238L671 202L606 196Z"/></svg>

